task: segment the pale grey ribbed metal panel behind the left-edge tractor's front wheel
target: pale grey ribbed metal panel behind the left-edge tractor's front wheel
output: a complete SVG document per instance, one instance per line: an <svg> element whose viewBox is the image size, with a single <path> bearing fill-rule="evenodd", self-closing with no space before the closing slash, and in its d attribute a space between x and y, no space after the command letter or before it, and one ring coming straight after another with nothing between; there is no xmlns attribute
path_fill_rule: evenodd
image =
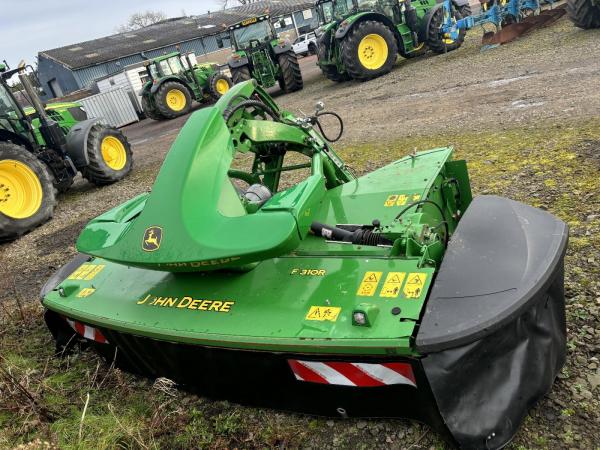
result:
<svg viewBox="0 0 600 450"><path fill-rule="evenodd" d="M140 120L125 89L101 92L78 102L90 119L103 117L104 122L113 127L123 127Z"/></svg>

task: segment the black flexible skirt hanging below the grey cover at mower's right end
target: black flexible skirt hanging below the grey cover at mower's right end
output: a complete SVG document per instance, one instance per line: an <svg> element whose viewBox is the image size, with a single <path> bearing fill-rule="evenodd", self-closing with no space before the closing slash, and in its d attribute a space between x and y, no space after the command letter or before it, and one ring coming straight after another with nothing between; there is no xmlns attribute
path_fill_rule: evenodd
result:
<svg viewBox="0 0 600 450"><path fill-rule="evenodd" d="M529 309L485 338L422 359L450 433L463 449L498 449L565 363L564 274Z"/></svg>

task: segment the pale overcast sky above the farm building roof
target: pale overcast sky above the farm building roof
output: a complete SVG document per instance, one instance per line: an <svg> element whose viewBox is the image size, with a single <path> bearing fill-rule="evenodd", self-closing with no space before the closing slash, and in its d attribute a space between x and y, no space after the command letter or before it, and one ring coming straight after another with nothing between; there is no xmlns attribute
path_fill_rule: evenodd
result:
<svg viewBox="0 0 600 450"><path fill-rule="evenodd" d="M39 51L107 36L136 12L147 9L169 17L203 14L217 0L1 0L0 61L11 67L35 62Z"/></svg>

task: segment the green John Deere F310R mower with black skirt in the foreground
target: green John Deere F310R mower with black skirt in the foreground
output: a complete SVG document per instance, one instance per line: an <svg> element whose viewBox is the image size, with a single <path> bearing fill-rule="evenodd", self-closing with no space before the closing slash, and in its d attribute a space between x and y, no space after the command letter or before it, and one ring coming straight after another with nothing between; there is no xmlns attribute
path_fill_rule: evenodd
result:
<svg viewBox="0 0 600 450"><path fill-rule="evenodd" d="M255 81L195 112L152 191L92 220L44 286L58 349L215 398L504 446L565 361L567 226L473 199L452 148L355 177L323 134L334 118L283 111Z"/></svg>

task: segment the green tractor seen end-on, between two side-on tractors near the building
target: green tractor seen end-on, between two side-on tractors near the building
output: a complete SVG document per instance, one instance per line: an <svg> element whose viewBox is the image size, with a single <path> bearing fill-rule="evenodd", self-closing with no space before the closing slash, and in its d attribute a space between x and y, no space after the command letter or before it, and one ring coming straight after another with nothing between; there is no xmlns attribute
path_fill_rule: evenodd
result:
<svg viewBox="0 0 600 450"><path fill-rule="evenodd" d="M264 88L279 83L284 92L304 86L292 45L278 39L269 16L253 17L229 27L234 53L229 58L233 83L254 78Z"/></svg>

